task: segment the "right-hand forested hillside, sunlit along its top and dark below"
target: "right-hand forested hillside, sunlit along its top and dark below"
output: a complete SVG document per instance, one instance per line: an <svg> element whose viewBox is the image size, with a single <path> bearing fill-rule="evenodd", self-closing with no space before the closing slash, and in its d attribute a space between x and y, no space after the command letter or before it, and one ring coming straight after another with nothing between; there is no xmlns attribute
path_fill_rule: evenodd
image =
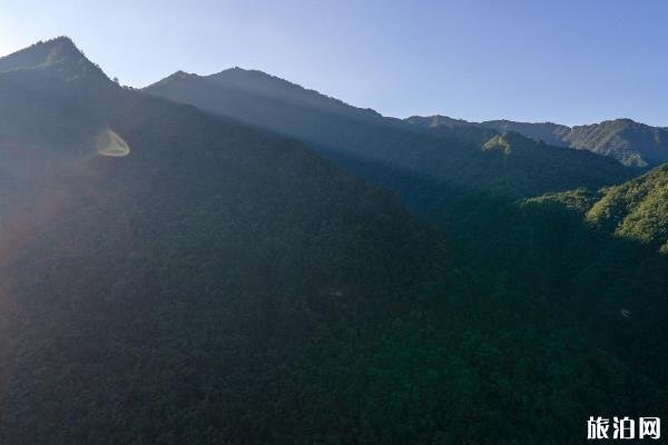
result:
<svg viewBox="0 0 668 445"><path fill-rule="evenodd" d="M668 362L661 350L668 339L668 258L658 247L665 235L647 243L665 225L665 217L656 216L662 204L650 198L650 210L641 217L628 200L616 199L632 195L620 190L644 189L645 197L665 202L664 180L661 167L601 191L517 202L459 190L442 200L438 214L459 245L455 255L485 273L487 281L501 278L527 298L547 301L595 344L666 385ZM603 209L630 219L639 231L603 224Z"/></svg>

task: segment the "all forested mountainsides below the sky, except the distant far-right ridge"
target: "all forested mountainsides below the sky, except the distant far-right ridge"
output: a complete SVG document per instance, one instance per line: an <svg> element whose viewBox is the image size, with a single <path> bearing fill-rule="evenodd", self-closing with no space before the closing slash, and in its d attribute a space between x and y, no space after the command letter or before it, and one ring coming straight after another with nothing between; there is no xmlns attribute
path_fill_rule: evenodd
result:
<svg viewBox="0 0 668 445"><path fill-rule="evenodd" d="M121 88L68 38L1 58L0 443L665 415L666 167L416 123L240 69Z"/></svg>

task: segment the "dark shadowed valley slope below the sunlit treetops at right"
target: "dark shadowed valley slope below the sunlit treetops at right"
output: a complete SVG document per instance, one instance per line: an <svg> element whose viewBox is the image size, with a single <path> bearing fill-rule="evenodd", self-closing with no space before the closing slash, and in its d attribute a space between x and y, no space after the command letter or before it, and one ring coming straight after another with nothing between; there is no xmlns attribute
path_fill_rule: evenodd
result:
<svg viewBox="0 0 668 445"><path fill-rule="evenodd" d="M662 353L668 256L656 247L606 233L562 204L528 202L377 162L333 158L436 221L482 291L503 288L546 304L631 369L668 382Z"/></svg>

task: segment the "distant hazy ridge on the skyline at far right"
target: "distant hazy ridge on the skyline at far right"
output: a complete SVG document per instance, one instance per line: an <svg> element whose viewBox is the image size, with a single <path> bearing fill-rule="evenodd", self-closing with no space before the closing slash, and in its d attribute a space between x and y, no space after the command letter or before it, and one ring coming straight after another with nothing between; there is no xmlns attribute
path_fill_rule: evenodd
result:
<svg viewBox="0 0 668 445"><path fill-rule="evenodd" d="M472 126L498 131L517 131L557 147L589 150L612 157L623 165L646 167L668 162L668 128L651 127L631 119L568 127L553 122L488 120L469 122L446 116L412 116L407 122L434 130L439 127Z"/></svg>

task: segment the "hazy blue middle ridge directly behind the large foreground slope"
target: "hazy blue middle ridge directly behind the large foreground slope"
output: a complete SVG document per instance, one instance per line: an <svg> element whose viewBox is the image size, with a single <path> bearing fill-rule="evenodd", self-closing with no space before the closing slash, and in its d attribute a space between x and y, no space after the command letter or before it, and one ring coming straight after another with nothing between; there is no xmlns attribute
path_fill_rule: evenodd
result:
<svg viewBox="0 0 668 445"><path fill-rule="evenodd" d="M259 71L237 68L206 77L176 73L145 91L297 137L336 159L355 158L348 164L353 169L360 162L381 162L392 170L391 177L418 175L525 197L598 188L635 175L611 159L537 144L517 134L512 139L518 148L512 152L487 151L482 146L495 130L456 126L424 131Z"/></svg>

